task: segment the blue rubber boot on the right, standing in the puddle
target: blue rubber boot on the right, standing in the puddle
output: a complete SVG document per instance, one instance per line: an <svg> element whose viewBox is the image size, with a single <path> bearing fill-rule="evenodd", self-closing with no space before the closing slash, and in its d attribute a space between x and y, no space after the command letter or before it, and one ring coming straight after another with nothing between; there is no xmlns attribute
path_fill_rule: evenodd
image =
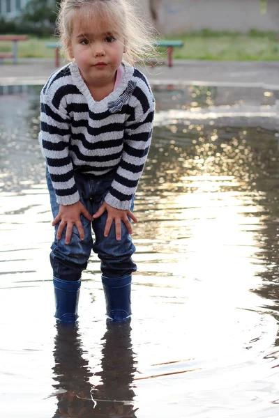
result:
<svg viewBox="0 0 279 418"><path fill-rule="evenodd" d="M131 274L114 279L102 276L107 319L123 322L130 318L132 314L130 308L131 282Z"/></svg>

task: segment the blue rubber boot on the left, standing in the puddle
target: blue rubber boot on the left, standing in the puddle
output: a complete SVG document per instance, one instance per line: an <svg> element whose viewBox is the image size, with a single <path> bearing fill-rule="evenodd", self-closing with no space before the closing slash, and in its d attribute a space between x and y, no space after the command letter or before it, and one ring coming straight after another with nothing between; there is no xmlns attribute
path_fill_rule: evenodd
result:
<svg viewBox="0 0 279 418"><path fill-rule="evenodd" d="M80 284L82 279L67 281L53 278L55 295L55 318L58 323L75 323L77 320L77 307L80 297Z"/></svg>

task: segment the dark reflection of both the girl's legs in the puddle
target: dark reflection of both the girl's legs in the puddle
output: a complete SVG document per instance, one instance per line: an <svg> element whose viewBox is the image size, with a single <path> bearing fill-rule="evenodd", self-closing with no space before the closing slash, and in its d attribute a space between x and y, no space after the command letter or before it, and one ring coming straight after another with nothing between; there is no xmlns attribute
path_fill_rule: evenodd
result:
<svg viewBox="0 0 279 418"><path fill-rule="evenodd" d="M129 323L110 326L103 340L100 376L102 384L92 387L93 373L82 357L82 342L77 326L57 324L54 341L54 385L57 410L53 418L62 417L130 417L136 418L135 396L131 385L135 373Z"/></svg>

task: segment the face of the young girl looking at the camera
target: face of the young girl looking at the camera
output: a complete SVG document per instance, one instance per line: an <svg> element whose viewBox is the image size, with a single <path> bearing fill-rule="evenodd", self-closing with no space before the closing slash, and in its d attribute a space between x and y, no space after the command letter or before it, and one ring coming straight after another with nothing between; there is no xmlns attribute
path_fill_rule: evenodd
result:
<svg viewBox="0 0 279 418"><path fill-rule="evenodd" d="M84 81L89 86L105 86L114 80L126 48L112 32L109 22L75 16L69 45Z"/></svg>

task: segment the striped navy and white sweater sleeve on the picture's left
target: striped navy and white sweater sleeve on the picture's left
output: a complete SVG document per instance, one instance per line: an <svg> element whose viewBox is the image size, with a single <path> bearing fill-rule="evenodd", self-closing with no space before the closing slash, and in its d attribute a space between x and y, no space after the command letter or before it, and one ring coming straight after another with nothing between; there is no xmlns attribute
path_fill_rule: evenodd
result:
<svg viewBox="0 0 279 418"><path fill-rule="evenodd" d="M40 95L40 146L47 161L57 203L72 205L80 200L80 195L68 152L70 117L61 94L56 91L52 98L49 96L44 91Z"/></svg>

